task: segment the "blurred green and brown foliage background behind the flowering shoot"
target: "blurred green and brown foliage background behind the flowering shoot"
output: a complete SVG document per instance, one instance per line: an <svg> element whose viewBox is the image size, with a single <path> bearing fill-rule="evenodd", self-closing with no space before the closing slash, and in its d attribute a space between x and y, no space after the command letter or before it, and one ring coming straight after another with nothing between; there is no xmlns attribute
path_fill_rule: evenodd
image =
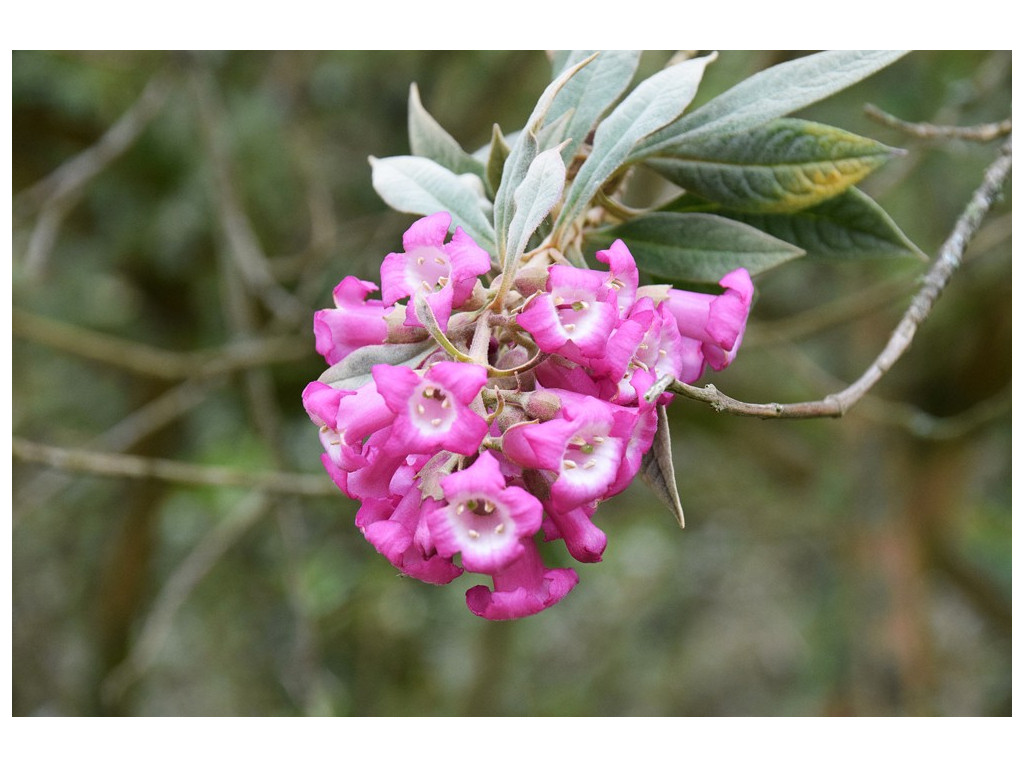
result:
<svg viewBox="0 0 1024 768"><path fill-rule="evenodd" d="M722 53L697 103L793 55ZM316 475L299 400L323 369L311 313L344 275L375 280L409 223L375 197L367 157L408 152L411 82L472 150L495 122L517 129L549 74L528 51L27 51L12 69L15 436ZM47 209L33 185L154 78L159 110L34 252ZM799 117L909 151L864 188L934 255L995 145L912 139L862 104L998 121L1010 80L1009 52L913 53ZM1009 195L909 353L843 420L677 399L687 528L634 485L598 514L605 561L517 623L470 615L467 578L395 575L340 494L15 461L14 714L1009 714ZM239 217L291 309L242 276ZM762 275L744 349L715 384L753 401L838 389L924 268L798 260ZM63 325L44 338L40 317ZM83 330L168 352L297 340L276 361L181 383L97 359Z"/></svg>

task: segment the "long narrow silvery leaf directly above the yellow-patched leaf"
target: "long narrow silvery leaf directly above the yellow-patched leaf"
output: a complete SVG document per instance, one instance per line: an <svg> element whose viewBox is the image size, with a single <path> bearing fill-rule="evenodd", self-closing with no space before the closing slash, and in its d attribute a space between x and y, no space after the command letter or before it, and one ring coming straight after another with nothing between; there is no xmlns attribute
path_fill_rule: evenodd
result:
<svg viewBox="0 0 1024 768"><path fill-rule="evenodd" d="M750 130L838 93L905 54L886 50L823 51L771 67L648 137L633 159L671 153L684 139Z"/></svg>

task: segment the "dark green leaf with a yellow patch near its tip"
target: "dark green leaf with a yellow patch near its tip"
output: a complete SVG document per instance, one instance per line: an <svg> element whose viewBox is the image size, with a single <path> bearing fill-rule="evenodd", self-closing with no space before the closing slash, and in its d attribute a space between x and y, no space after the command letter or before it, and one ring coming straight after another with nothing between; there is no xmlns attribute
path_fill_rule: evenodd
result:
<svg viewBox="0 0 1024 768"><path fill-rule="evenodd" d="M831 126L790 118L750 131L682 141L647 165L734 211L786 213L853 186L898 151Z"/></svg>

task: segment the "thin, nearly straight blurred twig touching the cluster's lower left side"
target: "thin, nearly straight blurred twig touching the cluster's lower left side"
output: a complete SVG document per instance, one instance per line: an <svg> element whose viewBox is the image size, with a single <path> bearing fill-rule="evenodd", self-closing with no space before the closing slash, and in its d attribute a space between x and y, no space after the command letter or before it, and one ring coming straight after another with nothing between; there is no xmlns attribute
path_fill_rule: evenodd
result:
<svg viewBox="0 0 1024 768"><path fill-rule="evenodd" d="M14 437L12 445L15 459L47 464L69 472L110 477L154 478L191 485L224 485L292 496L335 496L338 493L337 486L330 478L323 475L269 470L250 472L171 459L44 445L24 437Z"/></svg>

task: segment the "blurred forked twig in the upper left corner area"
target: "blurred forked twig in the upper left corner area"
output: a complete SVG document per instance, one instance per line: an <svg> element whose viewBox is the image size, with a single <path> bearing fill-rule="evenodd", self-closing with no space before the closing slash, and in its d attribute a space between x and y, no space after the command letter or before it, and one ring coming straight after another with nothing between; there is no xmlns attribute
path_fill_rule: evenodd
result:
<svg viewBox="0 0 1024 768"><path fill-rule="evenodd" d="M25 256L25 271L29 276L42 273L59 234L60 225L81 199L86 184L121 157L141 135L164 105L172 84L173 79L167 72L156 75L146 83L135 102L96 143L17 196L14 201L15 212L39 209Z"/></svg>

